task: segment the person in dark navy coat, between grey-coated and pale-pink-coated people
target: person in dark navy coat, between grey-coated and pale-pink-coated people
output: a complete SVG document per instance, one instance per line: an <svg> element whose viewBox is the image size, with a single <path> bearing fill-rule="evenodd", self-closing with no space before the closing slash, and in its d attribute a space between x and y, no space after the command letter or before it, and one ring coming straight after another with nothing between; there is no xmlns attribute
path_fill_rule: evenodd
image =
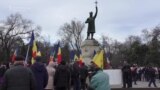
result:
<svg viewBox="0 0 160 90"><path fill-rule="evenodd" d="M43 63L41 63L41 57L35 58L36 62L31 66L31 70L36 78L36 90L44 90L48 83L48 72Z"/></svg>

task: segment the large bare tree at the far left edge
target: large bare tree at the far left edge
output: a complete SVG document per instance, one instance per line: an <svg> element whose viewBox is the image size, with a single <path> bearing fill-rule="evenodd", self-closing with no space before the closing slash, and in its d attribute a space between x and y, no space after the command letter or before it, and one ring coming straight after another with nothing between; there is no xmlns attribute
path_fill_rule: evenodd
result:
<svg viewBox="0 0 160 90"><path fill-rule="evenodd" d="M0 52L3 52L1 59L4 61L9 61L12 49L23 44L23 39L30 37L32 31L35 31L36 35L40 32L39 26L34 26L30 20L24 19L18 13L11 14L0 24Z"/></svg>

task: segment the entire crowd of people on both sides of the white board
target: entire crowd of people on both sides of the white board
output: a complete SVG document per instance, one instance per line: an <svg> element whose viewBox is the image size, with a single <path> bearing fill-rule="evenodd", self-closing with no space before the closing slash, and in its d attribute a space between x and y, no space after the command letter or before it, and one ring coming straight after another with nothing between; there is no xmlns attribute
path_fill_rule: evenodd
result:
<svg viewBox="0 0 160 90"><path fill-rule="evenodd" d="M0 65L0 90L110 90L109 76L94 62L60 64L50 61L42 63L37 56L35 63L26 65L24 57L17 56L13 65ZM127 62L122 67L123 88L132 88L137 81L147 81L148 87L160 79L160 69L154 67L130 66Z"/></svg>

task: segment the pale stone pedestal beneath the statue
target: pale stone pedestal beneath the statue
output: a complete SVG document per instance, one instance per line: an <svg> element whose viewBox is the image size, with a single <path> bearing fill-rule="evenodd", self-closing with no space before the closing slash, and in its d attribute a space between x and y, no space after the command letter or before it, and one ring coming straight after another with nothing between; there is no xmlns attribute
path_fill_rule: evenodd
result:
<svg viewBox="0 0 160 90"><path fill-rule="evenodd" d="M82 42L81 51L84 63L90 65L93 59L94 50L98 51L100 49L100 44L95 39L86 39Z"/></svg>

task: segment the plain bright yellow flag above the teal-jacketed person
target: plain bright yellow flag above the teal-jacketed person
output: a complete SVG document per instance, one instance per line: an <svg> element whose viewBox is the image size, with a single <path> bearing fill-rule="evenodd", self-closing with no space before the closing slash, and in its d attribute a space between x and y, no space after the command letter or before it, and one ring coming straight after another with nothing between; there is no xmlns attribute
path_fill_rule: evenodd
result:
<svg viewBox="0 0 160 90"><path fill-rule="evenodd" d="M94 64L96 64L99 68L103 69L104 65L104 51L101 50L100 52L97 52L97 54L93 58Z"/></svg>

